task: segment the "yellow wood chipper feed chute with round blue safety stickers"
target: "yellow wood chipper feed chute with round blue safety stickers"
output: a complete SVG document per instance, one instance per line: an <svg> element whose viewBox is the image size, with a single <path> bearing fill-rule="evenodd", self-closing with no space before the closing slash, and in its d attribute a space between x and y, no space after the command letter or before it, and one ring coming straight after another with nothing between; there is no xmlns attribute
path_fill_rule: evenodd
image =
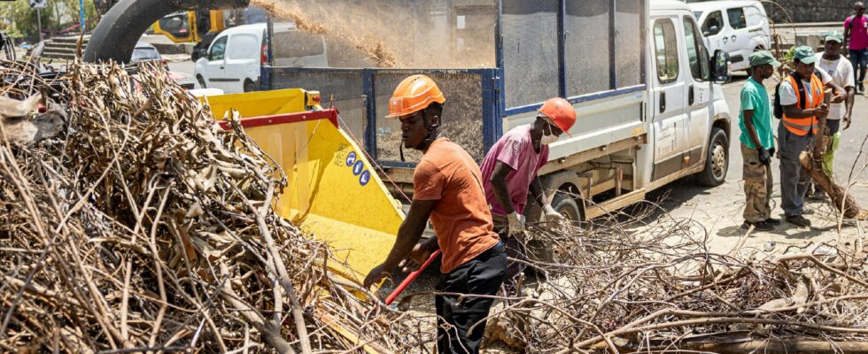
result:
<svg viewBox="0 0 868 354"><path fill-rule="evenodd" d="M360 284L388 256L404 212L338 126L337 110L319 108L318 92L282 89L203 100L217 119L238 111L244 131L280 164L288 185L277 212L329 243L347 265L331 266L333 271Z"/></svg>

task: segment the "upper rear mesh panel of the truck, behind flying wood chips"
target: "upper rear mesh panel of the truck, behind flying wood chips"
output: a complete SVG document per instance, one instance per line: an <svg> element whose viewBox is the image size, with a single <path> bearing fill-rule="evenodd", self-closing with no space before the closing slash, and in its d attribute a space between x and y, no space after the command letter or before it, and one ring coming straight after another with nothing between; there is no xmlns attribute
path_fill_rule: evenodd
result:
<svg viewBox="0 0 868 354"><path fill-rule="evenodd" d="M281 3L281 2L278 2ZM291 67L494 67L496 0L297 0L324 35L275 23L274 58ZM297 6L290 3L298 4ZM324 4L328 3L328 4Z"/></svg>

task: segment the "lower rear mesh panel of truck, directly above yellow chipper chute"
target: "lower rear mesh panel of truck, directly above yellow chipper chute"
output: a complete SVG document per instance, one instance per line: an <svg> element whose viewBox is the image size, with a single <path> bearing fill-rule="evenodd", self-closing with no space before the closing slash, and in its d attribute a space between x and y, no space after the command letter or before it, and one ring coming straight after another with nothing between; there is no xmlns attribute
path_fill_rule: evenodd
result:
<svg viewBox="0 0 868 354"><path fill-rule="evenodd" d="M362 95L361 73L317 73L307 69L304 73L275 73L274 89L310 89L320 91L322 105L334 105L340 111L345 129L355 136L356 143L365 146L368 120L365 97ZM332 97L334 102L332 103Z"/></svg>

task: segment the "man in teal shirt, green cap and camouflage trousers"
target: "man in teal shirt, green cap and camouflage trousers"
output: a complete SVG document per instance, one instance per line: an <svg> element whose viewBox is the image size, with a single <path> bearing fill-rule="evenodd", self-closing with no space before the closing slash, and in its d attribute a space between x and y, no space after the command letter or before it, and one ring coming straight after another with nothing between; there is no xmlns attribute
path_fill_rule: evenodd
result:
<svg viewBox="0 0 868 354"><path fill-rule="evenodd" d="M770 52L757 51L748 58L751 74L741 88L739 127L741 158L744 159L744 192L747 203L743 228L769 231L780 223L771 218L771 156L774 131L771 129L771 104L763 81L780 65Z"/></svg>

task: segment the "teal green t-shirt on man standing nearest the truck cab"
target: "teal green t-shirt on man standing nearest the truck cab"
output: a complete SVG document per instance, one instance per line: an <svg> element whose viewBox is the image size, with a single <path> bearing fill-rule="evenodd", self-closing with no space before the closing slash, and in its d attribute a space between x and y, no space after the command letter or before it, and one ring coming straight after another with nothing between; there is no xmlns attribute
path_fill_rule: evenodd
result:
<svg viewBox="0 0 868 354"><path fill-rule="evenodd" d="M769 103L769 93L765 87L759 82L754 81L754 78L748 78L744 86L741 87L741 108L739 110L739 127L741 128L740 140L750 149L756 149L754 142L750 141L748 128L744 124L744 112L754 112L754 127L756 127L756 135L759 136L760 143L765 149L771 149L775 146L774 130L771 129L771 104Z"/></svg>

